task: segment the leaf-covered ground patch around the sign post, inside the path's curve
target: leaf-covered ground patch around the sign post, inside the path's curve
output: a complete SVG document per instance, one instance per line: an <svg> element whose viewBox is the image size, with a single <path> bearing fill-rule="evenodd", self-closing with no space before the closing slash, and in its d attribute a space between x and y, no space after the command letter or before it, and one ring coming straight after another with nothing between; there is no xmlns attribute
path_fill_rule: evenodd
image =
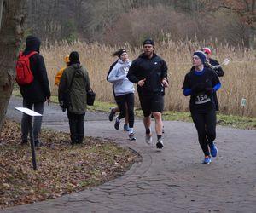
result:
<svg viewBox="0 0 256 213"><path fill-rule="evenodd" d="M55 199L125 173L136 153L99 138L85 137L71 146L69 134L43 130L44 146L36 150L38 170L32 170L31 148L20 145L20 124L6 121L0 135L0 209Z"/></svg>

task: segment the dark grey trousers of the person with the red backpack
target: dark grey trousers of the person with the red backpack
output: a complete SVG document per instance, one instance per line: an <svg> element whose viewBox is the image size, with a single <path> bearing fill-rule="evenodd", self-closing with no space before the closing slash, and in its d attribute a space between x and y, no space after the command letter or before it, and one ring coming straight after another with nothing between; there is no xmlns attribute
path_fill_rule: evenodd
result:
<svg viewBox="0 0 256 213"><path fill-rule="evenodd" d="M44 113L44 102L32 103L23 99L23 107L29 108L31 110L34 108L35 112L38 112L42 115ZM43 118L42 116L34 117L33 125L32 125L34 141L38 141L38 137L41 132L42 118ZM30 128L29 126L30 119L31 119L30 116L23 113L22 119L21 119L21 139L24 141L27 141L27 135Z"/></svg>

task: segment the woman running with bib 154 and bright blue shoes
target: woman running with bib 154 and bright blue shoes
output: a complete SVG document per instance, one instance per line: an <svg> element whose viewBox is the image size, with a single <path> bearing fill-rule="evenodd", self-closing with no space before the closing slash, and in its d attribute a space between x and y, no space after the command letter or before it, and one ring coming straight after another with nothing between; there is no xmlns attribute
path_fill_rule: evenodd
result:
<svg viewBox="0 0 256 213"><path fill-rule="evenodd" d="M189 109L205 155L203 164L210 164L211 155L216 157L218 153L213 142L216 138L216 105L212 94L221 87L221 83L218 76L204 66L205 61L206 55L200 50L195 51L193 66L184 78L183 95L190 95Z"/></svg>

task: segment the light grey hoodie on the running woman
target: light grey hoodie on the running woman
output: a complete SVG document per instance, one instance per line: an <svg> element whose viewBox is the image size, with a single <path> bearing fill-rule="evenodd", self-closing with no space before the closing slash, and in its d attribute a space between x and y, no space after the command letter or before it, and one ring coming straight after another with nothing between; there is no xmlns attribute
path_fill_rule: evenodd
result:
<svg viewBox="0 0 256 213"><path fill-rule="evenodd" d="M126 77L130 66L130 60L119 59L108 75L108 81L113 83L113 91L116 96L134 93L133 83Z"/></svg>

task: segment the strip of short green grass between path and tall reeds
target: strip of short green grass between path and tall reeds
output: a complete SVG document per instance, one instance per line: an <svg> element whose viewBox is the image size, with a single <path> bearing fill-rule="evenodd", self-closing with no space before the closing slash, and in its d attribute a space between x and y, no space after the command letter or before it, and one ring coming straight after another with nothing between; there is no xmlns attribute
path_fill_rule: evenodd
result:
<svg viewBox="0 0 256 213"><path fill-rule="evenodd" d="M13 95L20 96L20 92L14 90ZM51 101L58 103L58 99L56 96L52 96ZM88 106L88 109L94 111L109 112L109 108L111 107L116 107L116 105L109 102L95 101L94 106ZM143 112L139 109L135 110L135 114L137 117L143 117ZM192 122L192 118L189 112L165 111L163 118L166 121L169 120ZM256 118L248 118L236 115L224 115L219 112L217 113L217 124L238 129L256 130Z"/></svg>

